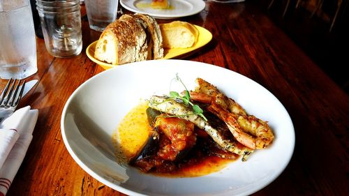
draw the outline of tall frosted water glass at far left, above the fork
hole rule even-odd
[[[0,77],[29,77],[38,71],[29,0],[0,1]]]

